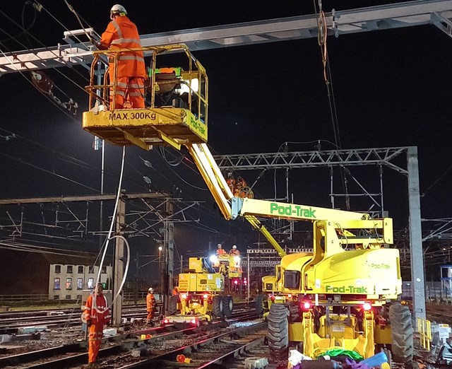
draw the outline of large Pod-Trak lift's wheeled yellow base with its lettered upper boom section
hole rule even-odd
[[[331,348],[364,358],[391,348],[397,361],[412,361],[412,323],[405,305],[389,305],[402,291],[399,252],[391,218],[295,204],[244,199],[242,212],[313,221],[314,250],[289,254],[263,277],[269,311],[268,345],[275,359],[291,345],[315,358]],[[334,219],[334,220],[333,220]]]

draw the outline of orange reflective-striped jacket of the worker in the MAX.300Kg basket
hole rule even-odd
[[[100,42],[109,49],[133,49],[141,47],[140,35],[135,23],[126,16],[117,16],[108,23]],[[110,76],[114,76],[114,58],[109,58]],[[145,78],[145,61],[142,51],[124,51],[119,54],[118,74],[121,77]],[[112,78],[110,78],[112,79]]]

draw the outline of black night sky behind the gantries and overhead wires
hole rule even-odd
[[[103,32],[112,1],[69,2],[97,33]],[[21,23],[25,1],[11,3],[0,9]],[[80,28],[64,1],[41,3],[70,30]],[[177,2],[123,1],[122,5],[140,33],[149,34],[314,13],[312,2],[300,3],[280,1],[278,6],[268,6],[261,1],[184,1],[182,6]],[[391,1],[323,1],[323,10],[388,3]],[[25,9],[27,26],[32,21],[32,10],[30,6]],[[20,32],[4,14],[0,16],[1,30],[13,35]],[[44,45],[54,46],[61,41],[63,29],[42,12],[30,33]],[[0,34],[2,40],[8,38]],[[23,36],[18,40],[30,45]],[[33,40],[32,45],[38,46]],[[2,41],[1,46],[4,51],[25,49],[12,40]],[[328,54],[342,147],[418,146],[421,192],[425,192],[422,216],[450,217],[451,38],[433,25],[341,35],[328,37]],[[195,55],[208,71],[209,144],[215,153],[276,152],[285,141],[297,143],[289,145],[290,151],[310,151],[315,149],[316,140],[334,141],[316,39],[207,50]],[[85,69],[75,69],[88,76]],[[87,84],[74,71],[59,71],[82,86]],[[58,71],[47,72],[56,86],[79,102],[81,109],[75,119],[70,119],[20,74],[0,78],[0,128],[21,136],[6,141],[1,137],[7,136],[6,132],[0,131],[1,198],[93,194],[100,187],[97,169],[100,152],[91,147],[93,136],[81,129],[81,111],[88,104],[87,95]],[[23,138],[32,142],[27,144]],[[37,144],[45,149],[38,149]],[[334,147],[323,143],[323,148]],[[51,149],[59,153],[51,153]],[[65,163],[60,153],[83,160],[91,168]],[[106,155],[106,170],[112,175],[107,175],[105,192],[114,192],[121,148],[108,144]],[[178,155],[174,152],[174,156]],[[157,170],[150,173],[140,156],[150,160]],[[213,200],[206,194],[201,177],[191,169],[184,165],[169,168],[156,150],[148,153],[128,148],[126,160],[124,181],[129,192],[146,191],[142,176],[148,175],[155,188],[172,191],[175,185],[182,189],[186,200],[205,199],[206,205],[199,212],[201,223],[218,224],[218,229],[226,233],[238,232],[234,225],[224,225],[215,215]],[[93,189],[25,163],[58,172]],[[173,171],[203,189],[186,185]],[[254,182],[256,173],[242,175],[248,182]],[[283,178],[283,172],[280,176]],[[295,194],[295,202],[330,206],[328,170],[311,170],[294,174],[293,178],[290,192]],[[398,228],[405,227],[408,224],[404,210],[408,209],[405,179],[387,171],[385,191],[386,210],[395,218]],[[273,175],[264,177],[256,192],[262,197],[273,197]],[[278,192],[278,196],[283,196],[283,186]],[[225,235],[210,235],[214,242],[218,238],[227,240]]]

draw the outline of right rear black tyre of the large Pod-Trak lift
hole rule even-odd
[[[391,305],[389,307],[389,322],[391,323],[393,360],[397,363],[411,363],[414,351],[411,312],[406,305]]]

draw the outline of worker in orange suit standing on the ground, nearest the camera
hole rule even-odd
[[[88,368],[95,367],[95,361],[102,343],[104,324],[111,319],[107,298],[102,294],[102,284],[97,283],[93,295],[89,295],[83,311],[83,320],[89,327]]]

